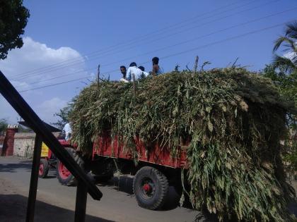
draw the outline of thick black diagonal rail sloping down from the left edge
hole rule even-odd
[[[11,85],[11,82],[7,80],[5,75],[0,71],[0,92],[4,98],[13,106],[18,114],[30,125],[30,128],[34,130],[37,135],[42,137],[43,142],[50,147],[52,152],[57,158],[62,161],[66,168],[77,178],[83,181],[88,188],[88,193],[93,199],[100,200],[102,192],[95,186],[90,178],[83,172],[83,170],[76,164],[76,161],[69,155],[69,153],[59,144],[52,132],[45,128],[40,118],[36,115],[33,109],[25,102],[23,97],[16,91]]]

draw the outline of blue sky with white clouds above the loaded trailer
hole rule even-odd
[[[272,60],[274,40],[284,33],[280,24],[297,19],[297,1],[292,0],[24,4],[31,15],[24,47],[10,51],[0,69],[47,122],[56,121],[53,113],[93,80],[98,64],[112,80],[120,79],[120,66],[132,61],[151,70],[153,56],[165,71],[176,65],[192,68],[197,55],[200,66],[211,62],[208,68],[226,67],[238,57],[242,66],[260,70]],[[67,83],[54,85],[61,82]],[[3,97],[0,106],[0,118],[15,123],[18,115]]]

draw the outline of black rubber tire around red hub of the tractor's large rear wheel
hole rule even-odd
[[[78,164],[78,166],[80,166],[83,169],[84,166],[84,161],[81,158],[81,156],[79,156],[76,153],[76,150],[73,149],[72,147],[65,147],[65,149],[67,150],[67,152],[70,154],[70,156],[72,156],[72,158],[74,159],[74,161],[76,161],[76,163]],[[56,171],[57,171],[57,178],[59,180],[59,183],[61,183],[62,185],[65,186],[76,186],[77,185],[77,180],[74,177],[74,175],[72,175],[71,173],[65,178],[63,175],[60,174],[59,168],[60,165],[62,164],[61,161],[59,161],[59,159],[57,159],[57,167],[56,167]],[[62,165],[63,166],[63,165]]]

